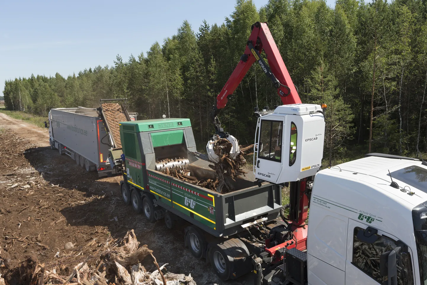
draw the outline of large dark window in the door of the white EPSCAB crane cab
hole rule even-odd
[[[281,161],[282,158],[282,130],[283,122],[262,120],[260,129],[260,143],[258,157]]]

